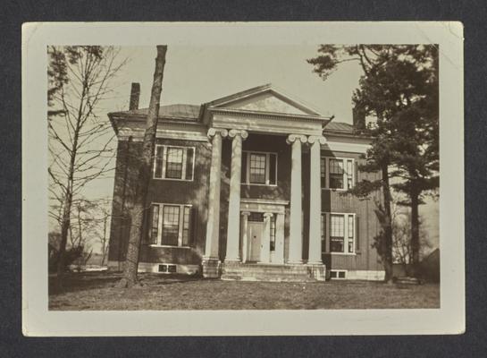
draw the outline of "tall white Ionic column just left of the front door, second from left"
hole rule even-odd
[[[225,261],[239,261],[239,227],[240,227],[240,181],[242,166],[242,141],[247,139],[247,131],[232,129],[231,141],[231,176],[230,198],[228,204],[227,253]]]

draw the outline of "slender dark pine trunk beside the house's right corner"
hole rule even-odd
[[[392,214],[390,210],[389,166],[382,166],[382,188],[384,200],[384,235],[382,237],[382,261],[385,270],[384,282],[392,279]]]

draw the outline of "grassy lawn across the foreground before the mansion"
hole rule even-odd
[[[143,286],[115,287],[121,275],[72,273],[63,292],[50,277],[49,309],[100,310],[313,310],[439,308],[440,286],[384,285],[366,281],[312,283],[237,282],[140,275]]]

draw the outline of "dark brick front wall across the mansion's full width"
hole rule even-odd
[[[243,184],[241,186],[242,198],[261,198],[269,200],[290,200],[290,153],[291,148],[284,136],[260,135],[251,133],[247,141],[243,142],[243,150],[272,151],[278,154],[277,186],[256,186]],[[142,262],[173,262],[198,264],[205,251],[206,217],[209,171],[211,163],[211,146],[202,141],[179,141],[158,139],[157,144],[172,144],[195,147],[194,180],[171,181],[153,179],[149,186],[148,200],[153,202],[192,204],[197,218],[193,230],[191,248],[161,248],[150,247],[143,244],[140,251]],[[139,159],[141,142],[119,141],[116,159],[115,181],[113,189],[113,218],[110,239],[109,260],[124,260],[124,252],[129,238],[129,222],[123,220],[122,208],[130,209],[133,202],[133,188],[137,180],[134,164]],[[356,164],[360,155],[352,153],[330,152],[323,150],[322,154],[329,157],[355,158]],[[309,152],[303,147],[303,209],[304,209],[304,240],[303,257],[308,254],[308,212],[309,212]],[[128,170],[126,170],[128,168]],[[131,170],[130,170],[131,168]],[[222,182],[220,206],[220,258],[225,257],[227,213],[229,200],[229,184],[231,176],[231,141],[223,140],[222,154]],[[358,173],[356,182],[363,178],[374,180],[377,174]],[[123,193],[125,196],[123,199]],[[324,254],[323,261],[327,268],[382,270],[376,251],[371,248],[374,236],[379,233],[380,227],[374,214],[374,200],[381,200],[377,192],[371,200],[359,200],[351,195],[342,196],[340,192],[323,190],[322,208],[326,212],[355,213],[358,216],[359,226],[357,240],[360,242],[360,251],[356,255],[330,255]],[[289,207],[286,208],[284,226],[284,257],[289,257]]]

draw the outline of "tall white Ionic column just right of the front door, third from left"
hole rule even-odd
[[[288,143],[292,145],[290,175],[290,263],[303,262],[303,204],[301,179],[301,143],[306,136],[290,134]]]

